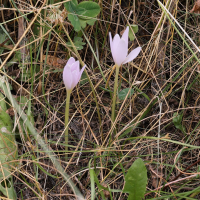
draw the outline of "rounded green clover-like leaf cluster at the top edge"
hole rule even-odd
[[[68,19],[74,26],[75,31],[85,28],[86,24],[93,25],[94,19],[100,12],[97,3],[91,1],[83,1],[78,4],[77,0],[71,0],[64,3],[65,8],[69,12]]]

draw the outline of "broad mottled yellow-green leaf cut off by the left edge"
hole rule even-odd
[[[12,166],[17,156],[15,135],[12,133],[12,120],[6,113],[5,98],[0,93],[0,191],[9,199],[16,199],[11,176]]]

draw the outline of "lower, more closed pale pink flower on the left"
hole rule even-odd
[[[71,91],[80,81],[86,65],[80,70],[79,61],[71,57],[63,70],[63,81],[67,90]]]

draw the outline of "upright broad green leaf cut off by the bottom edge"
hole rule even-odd
[[[147,185],[147,169],[141,158],[137,159],[129,168],[125,176],[123,192],[129,193],[128,200],[144,198]]]

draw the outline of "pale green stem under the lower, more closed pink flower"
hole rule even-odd
[[[70,104],[70,95],[71,95],[71,90],[67,90],[67,99],[66,99],[66,107],[65,107],[65,160],[68,160],[68,136],[69,136],[69,104]]]

